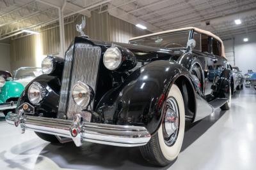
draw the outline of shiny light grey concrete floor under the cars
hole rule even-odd
[[[168,167],[152,167],[138,148],[86,143],[52,145],[33,132],[0,120],[1,169],[256,169],[256,90],[232,97],[229,111],[216,111],[186,129],[182,151]]]

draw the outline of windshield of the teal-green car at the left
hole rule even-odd
[[[17,69],[15,71],[14,80],[19,80],[22,78],[35,78],[36,76],[40,76],[42,74],[41,68],[23,68]]]

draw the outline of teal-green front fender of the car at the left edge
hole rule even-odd
[[[1,89],[0,101],[3,101],[3,103],[5,103],[6,100],[10,98],[20,97],[20,94],[23,92],[23,90],[24,87],[21,83],[18,83],[16,81],[6,81]]]

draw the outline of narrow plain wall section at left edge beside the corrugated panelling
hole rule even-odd
[[[10,64],[10,45],[0,43],[0,70],[12,71]]]

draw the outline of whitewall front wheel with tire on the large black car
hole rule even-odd
[[[147,145],[140,146],[144,159],[156,166],[166,166],[179,155],[185,129],[185,108],[177,85],[172,85],[163,108],[163,122]]]

